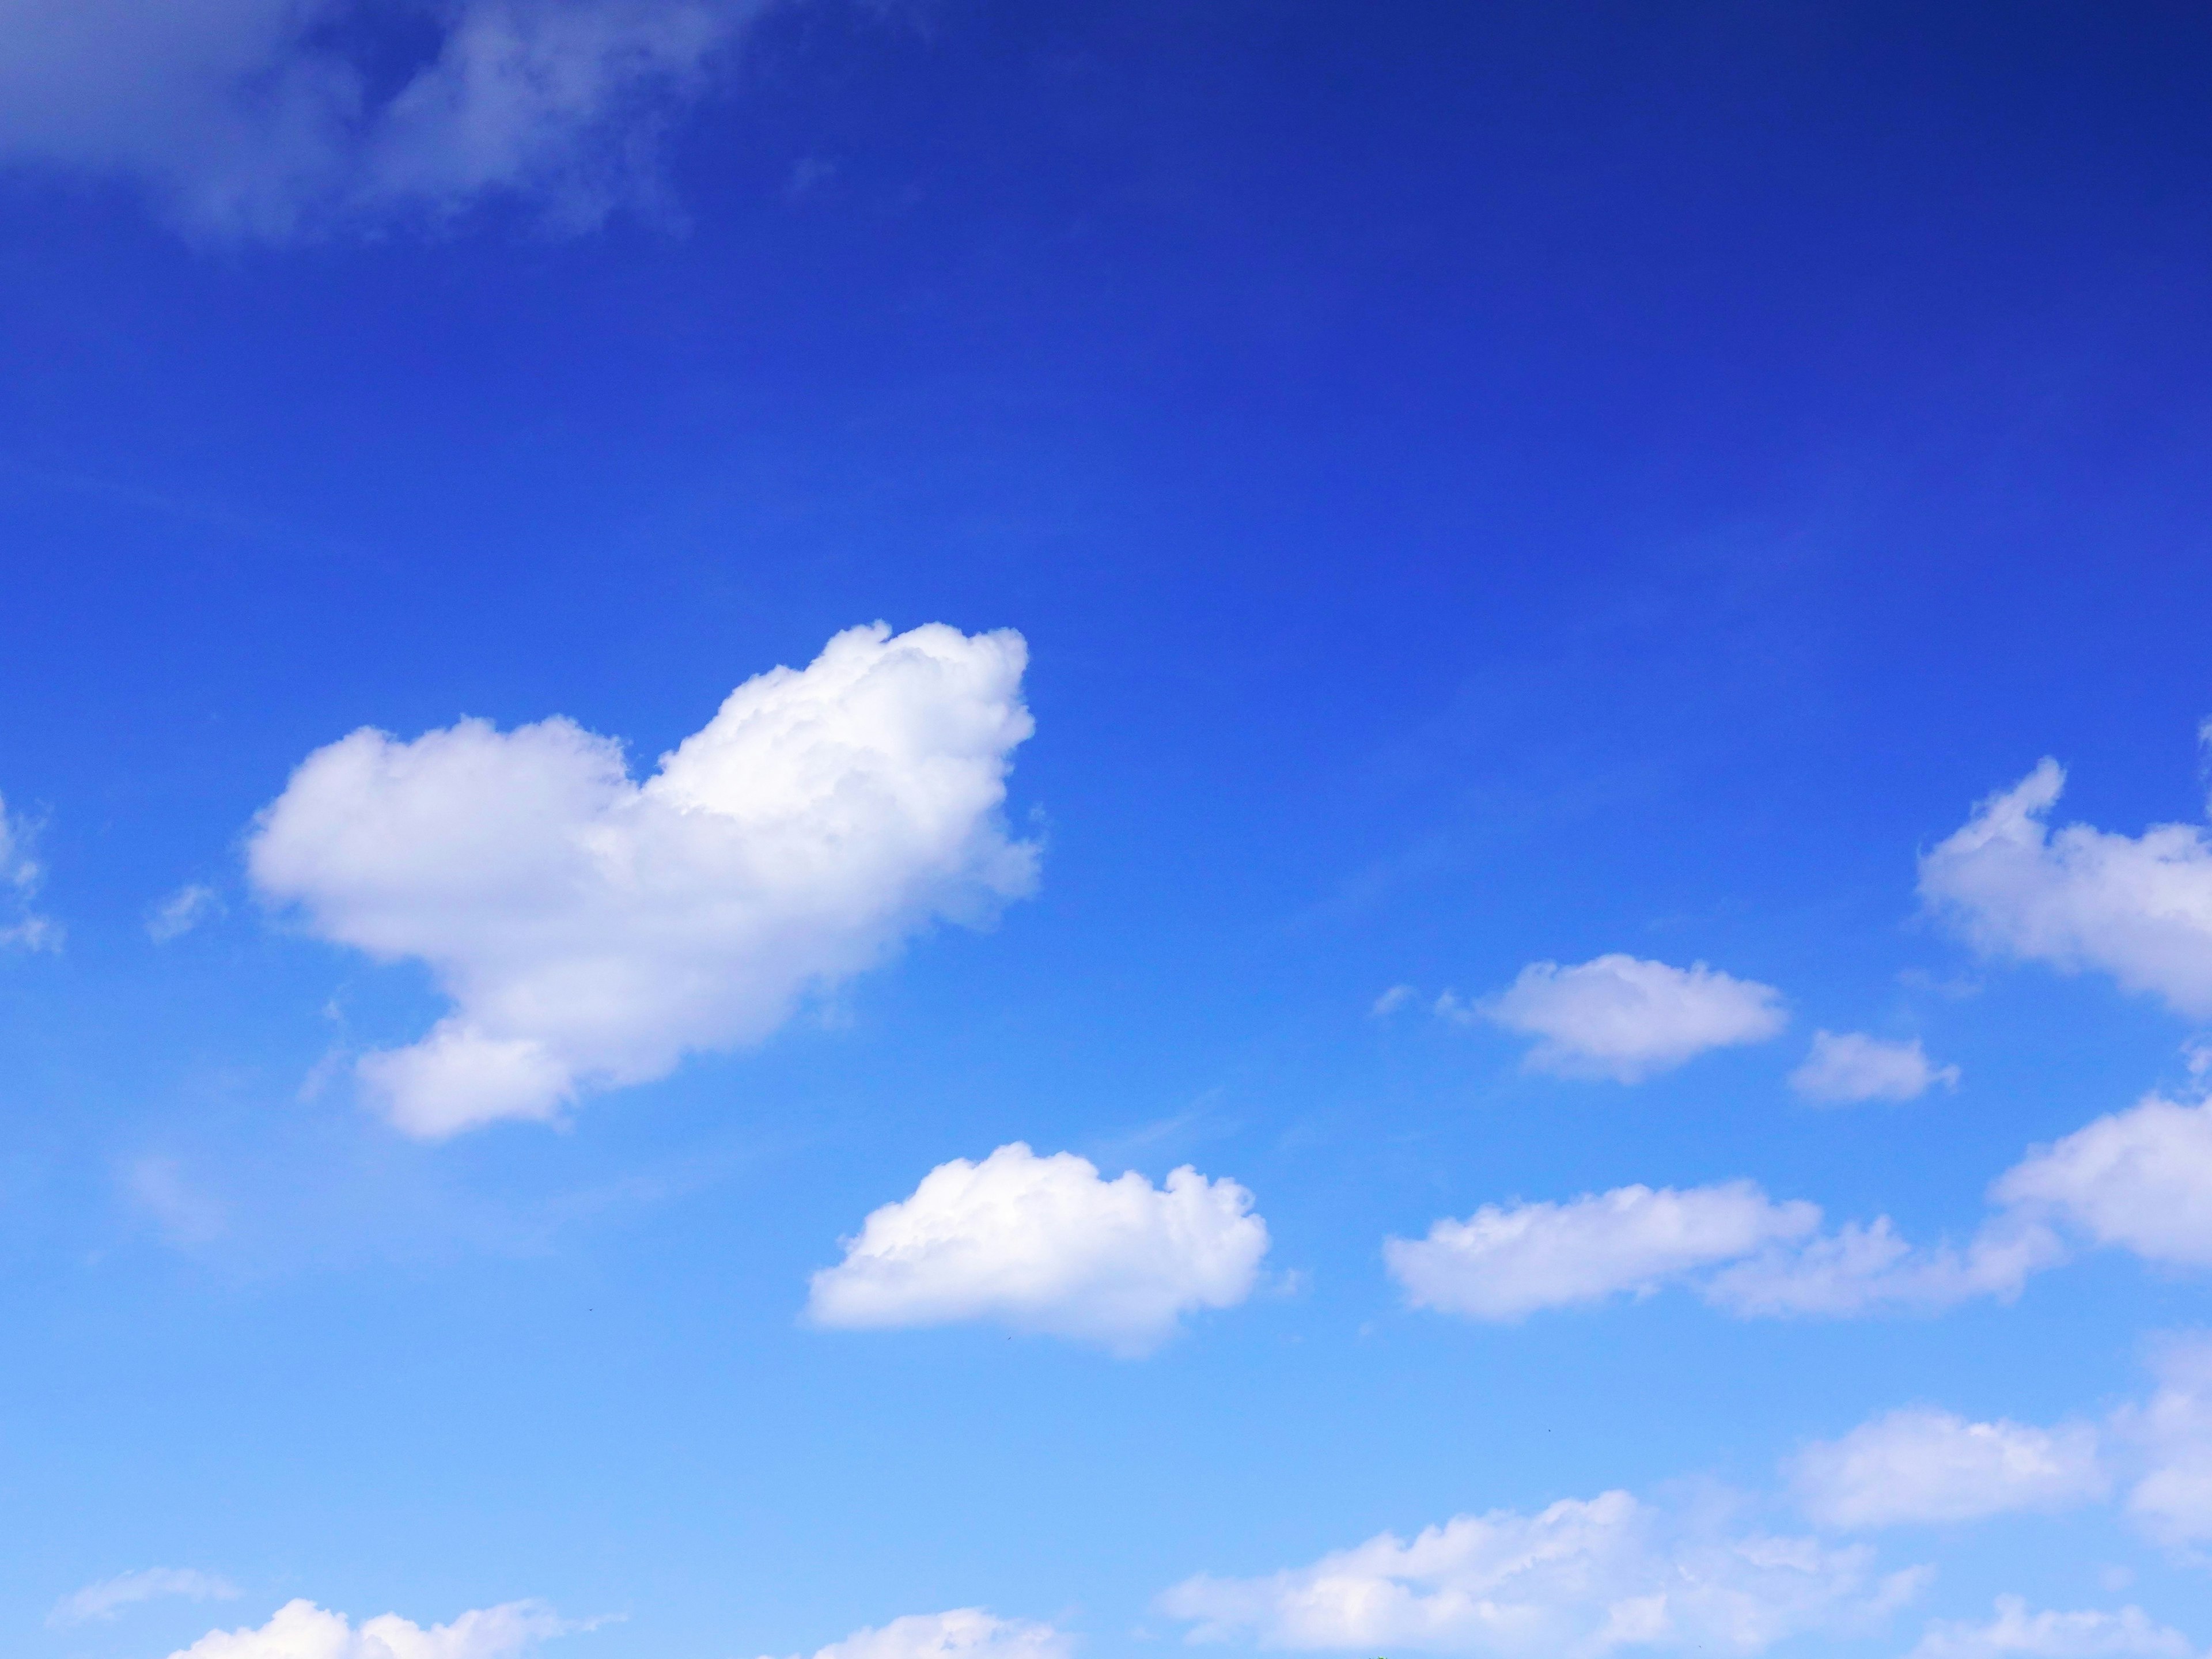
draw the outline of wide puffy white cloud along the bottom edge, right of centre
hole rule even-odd
[[[1267,1577],[1201,1575],[1159,1606],[1201,1641],[1263,1648],[1756,1655],[1794,1635],[1860,1628],[1920,1582],[1918,1571],[1878,1577],[1863,1546],[1730,1533],[1608,1491],[1535,1515],[1455,1515],[1413,1540],[1383,1533]]]

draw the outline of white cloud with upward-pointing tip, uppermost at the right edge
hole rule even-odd
[[[1991,956],[2104,969],[2179,1013],[2212,1015],[2212,843],[2197,825],[2141,836],[2048,830],[2066,787],[2042,761],[1920,860],[1920,894]]]

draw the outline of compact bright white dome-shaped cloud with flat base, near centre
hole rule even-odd
[[[940,1164],[814,1274],[807,1316],[880,1329],[998,1321],[1137,1356],[1199,1307],[1252,1294],[1267,1223],[1252,1194],[1183,1166],[1155,1188],[1106,1181],[1073,1152],[1015,1141],[982,1164]]]

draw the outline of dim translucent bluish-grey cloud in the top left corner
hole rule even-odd
[[[653,139],[768,0],[0,0],[0,164],[281,237],[491,195],[650,199]]]

